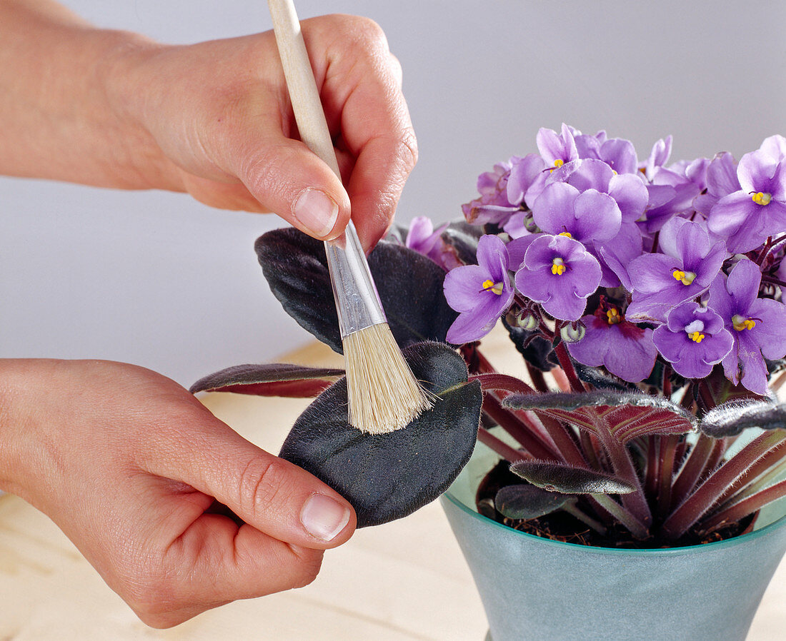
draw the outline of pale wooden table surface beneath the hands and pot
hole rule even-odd
[[[512,350],[504,336],[492,335],[484,348],[502,370],[521,375],[520,362],[505,367]],[[337,358],[315,343],[286,360],[335,365]],[[272,452],[307,405],[239,394],[206,394],[202,400]],[[138,621],[46,516],[16,496],[0,496],[0,641],[483,641],[486,630],[472,577],[437,502],[399,521],[358,530],[325,555],[317,580],[306,588],[230,603],[177,628],[154,630]],[[786,562],[747,641],[783,641],[784,630]]]

